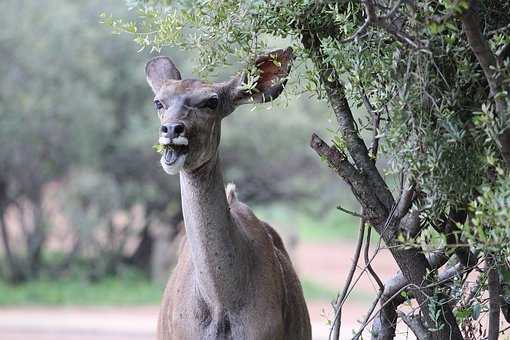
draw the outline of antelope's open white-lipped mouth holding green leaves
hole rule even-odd
[[[175,175],[182,170],[189,151],[188,139],[176,137],[173,139],[160,137],[159,144],[163,147],[161,166],[166,173]]]

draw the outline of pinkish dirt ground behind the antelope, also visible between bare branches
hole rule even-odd
[[[301,277],[333,292],[342,288],[351,265],[354,242],[301,244],[295,266]],[[361,264],[360,264],[361,265]],[[395,270],[383,252],[373,264],[384,280]],[[359,270],[358,270],[359,272]],[[356,277],[356,276],[355,276]],[[342,339],[358,329],[376,289],[362,276],[343,313]],[[308,301],[313,339],[327,339],[331,318],[329,301]],[[121,340],[154,339],[158,306],[142,307],[24,307],[0,308],[1,340]]]

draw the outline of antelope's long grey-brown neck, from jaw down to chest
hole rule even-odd
[[[218,155],[181,171],[180,183],[197,288],[215,309],[235,308],[248,284],[248,242],[230,213]]]

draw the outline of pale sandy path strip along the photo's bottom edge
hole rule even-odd
[[[0,339],[149,340],[155,338],[157,314],[157,306],[3,308],[0,310]],[[313,329],[314,339],[327,338],[328,327],[324,322],[314,320]]]

